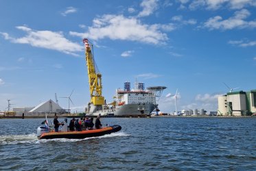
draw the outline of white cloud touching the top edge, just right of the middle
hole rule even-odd
[[[158,1],[159,0],[143,0],[141,2],[141,7],[143,8],[143,10],[139,12],[138,16],[149,16],[150,14],[152,14],[154,10],[159,8],[157,4]]]

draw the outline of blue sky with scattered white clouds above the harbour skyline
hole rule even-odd
[[[103,96],[135,80],[166,86],[159,109],[217,111],[218,96],[256,89],[255,0],[0,0],[0,110],[90,101],[83,38]],[[226,87],[226,85],[229,88]]]

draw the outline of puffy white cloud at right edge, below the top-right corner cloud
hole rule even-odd
[[[250,16],[250,12],[248,10],[240,10],[234,13],[230,18],[223,20],[221,16],[215,16],[213,18],[209,18],[207,22],[204,23],[203,27],[213,29],[243,29],[243,28],[255,28],[256,21],[245,21],[244,19]]]

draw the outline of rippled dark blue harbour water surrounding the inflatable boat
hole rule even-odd
[[[121,132],[37,140],[43,119],[0,120],[0,170],[256,170],[256,118],[101,120]]]

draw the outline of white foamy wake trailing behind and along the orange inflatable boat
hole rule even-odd
[[[102,135],[100,137],[86,137],[84,139],[67,139],[67,138],[59,138],[59,139],[51,139],[51,140],[38,140],[36,133],[28,134],[28,135],[0,135],[0,144],[40,144],[45,142],[80,142],[84,140],[90,139],[101,139],[108,137],[126,137],[130,136],[124,132],[111,133]]]

